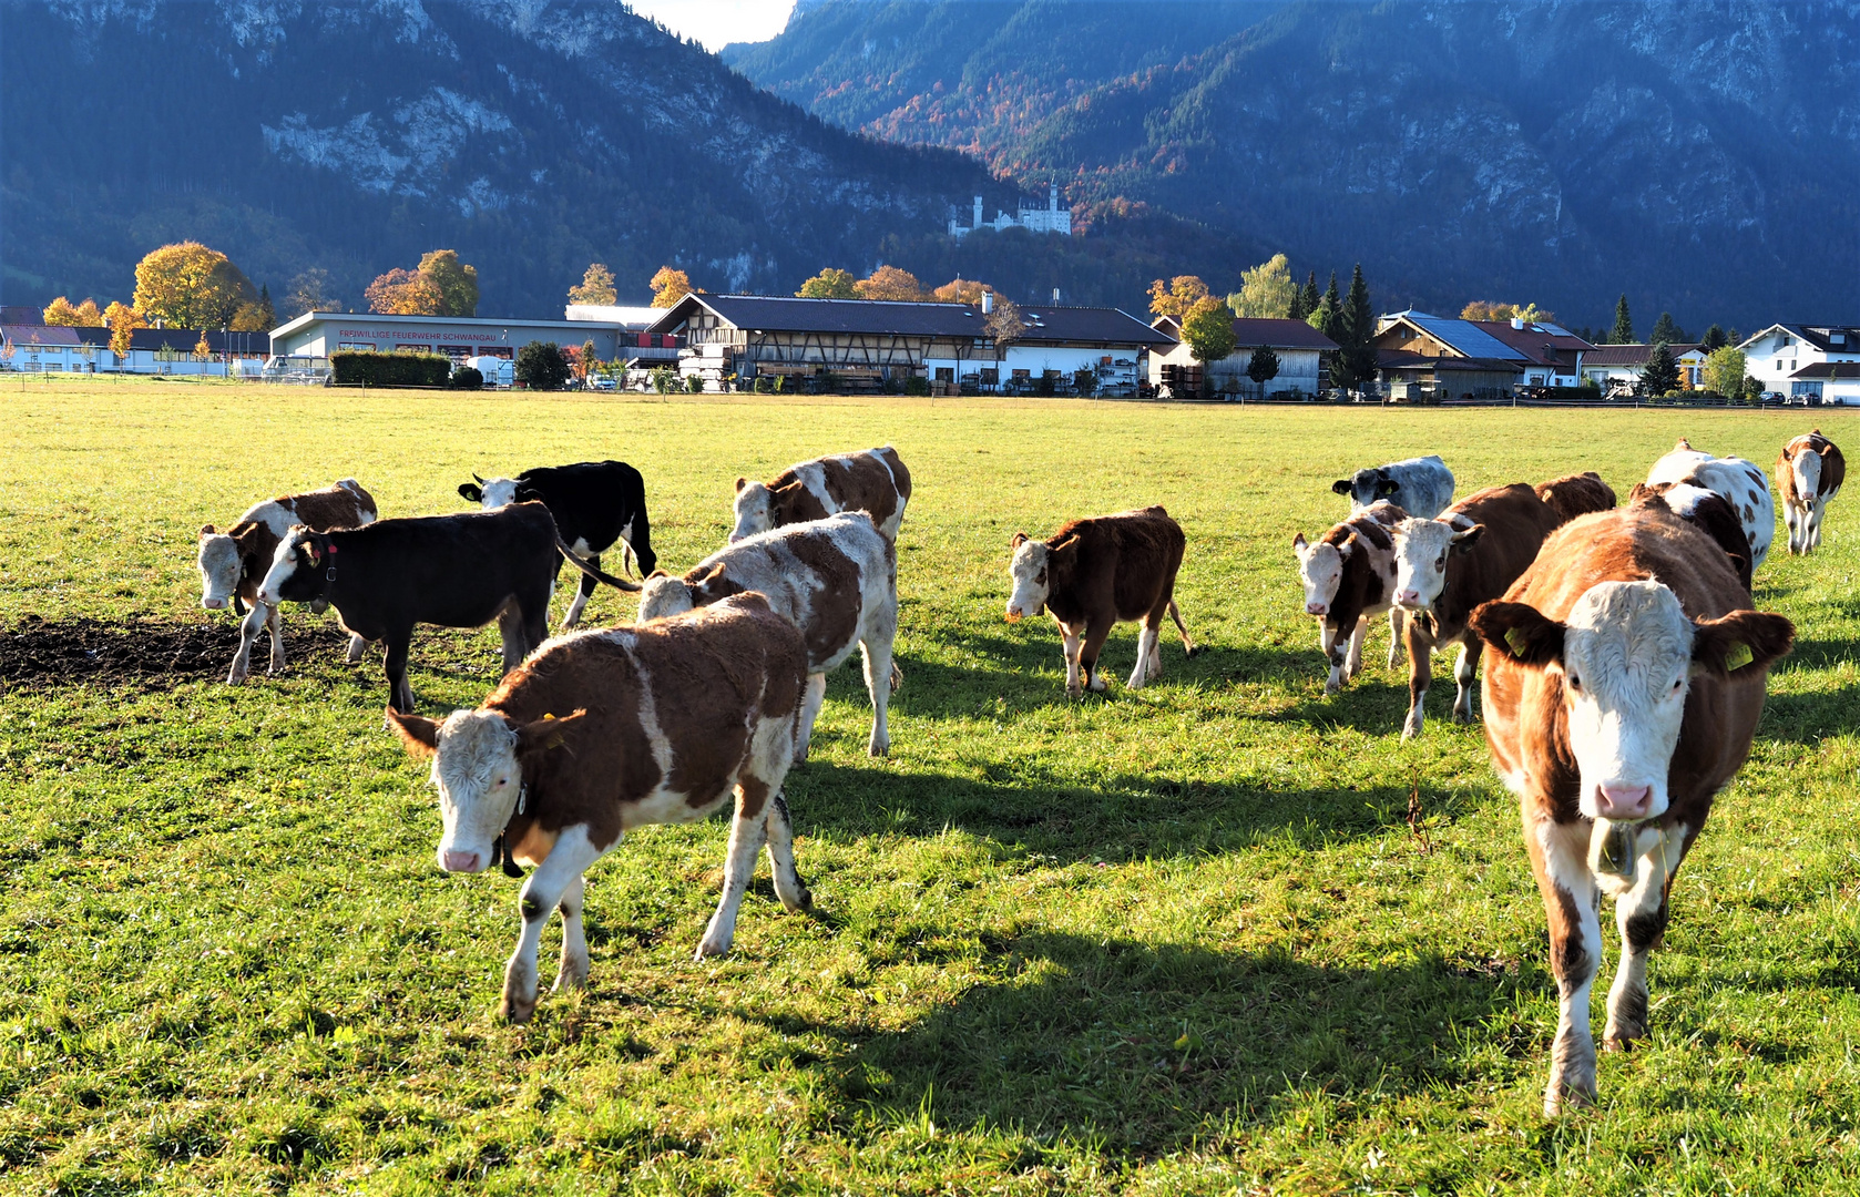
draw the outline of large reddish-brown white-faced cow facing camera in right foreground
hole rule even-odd
[[[1521,799],[1549,920],[1559,1019],[1546,1113],[1596,1097],[1601,892],[1622,937],[1603,1045],[1646,1035],[1646,957],[1665,935],[1674,874],[1748,756],[1767,667],[1795,636],[1747,604],[1702,532],[1637,504],[1564,526],[1505,600],[1473,612],[1486,743]]]

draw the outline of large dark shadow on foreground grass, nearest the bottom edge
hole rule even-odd
[[[811,1028],[850,1045],[820,1065],[846,1102],[891,1123],[928,1115],[1148,1154],[1272,1117],[1296,1093],[1388,1097],[1497,1080],[1456,1058],[1468,1032],[1525,1069],[1546,1048],[1512,1017],[1520,989],[1549,983],[1538,965],[1335,968],[1283,952],[1045,931],[990,948],[995,980],[913,1026]]]

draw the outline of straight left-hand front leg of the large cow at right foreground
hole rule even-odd
[[[1412,647],[1412,643],[1410,643]],[[1590,823],[1557,823],[1538,814],[1542,803],[1523,803],[1523,838],[1531,872],[1549,922],[1549,968],[1557,976],[1557,1039],[1549,1048],[1544,1115],[1557,1117],[1564,1102],[1596,1100],[1596,1039],[1588,1030],[1588,993],[1601,957],[1601,894],[1588,872]]]

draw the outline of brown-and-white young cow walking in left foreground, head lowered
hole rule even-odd
[[[407,751],[433,758],[439,868],[478,874],[504,853],[536,866],[517,903],[506,1019],[528,1022],[536,1009],[536,952],[552,909],[562,911],[556,989],[588,981],[582,874],[634,827],[690,823],[735,797],[724,898],[698,959],[729,952],[764,842],[781,905],[813,905],[781,797],[805,686],[800,630],[750,593],[551,639],[478,710],[443,723],[389,708]]]

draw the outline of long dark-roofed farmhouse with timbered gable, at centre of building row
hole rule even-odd
[[[988,333],[993,297],[965,303],[684,296],[651,335],[684,344],[679,370],[709,385],[779,377],[843,390],[878,390],[910,377],[949,390],[1071,390],[1092,370],[1099,394],[1136,394],[1146,357],[1174,340],[1118,309],[1030,307],[1021,336]]]

